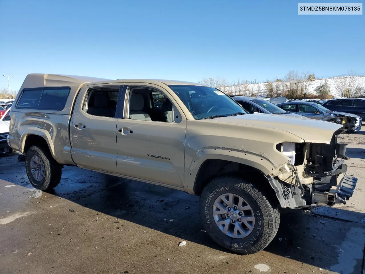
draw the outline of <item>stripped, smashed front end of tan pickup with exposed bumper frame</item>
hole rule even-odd
[[[268,178],[282,207],[345,204],[353,195],[357,178],[346,174],[347,165],[339,159],[346,153],[346,144],[337,141],[343,130],[333,134],[330,144],[295,144],[295,159]],[[283,153],[282,147],[277,150]]]

